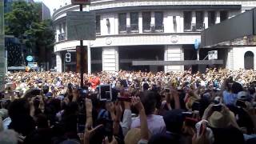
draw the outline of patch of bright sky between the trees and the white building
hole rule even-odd
[[[50,9],[50,14],[54,13],[54,9],[58,9],[59,6],[64,6],[65,2],[70,2],[70,0],[34,0],[34,2],[43,2]]]

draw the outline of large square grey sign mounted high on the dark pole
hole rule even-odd
[[[66,29],[68,40],[95,40],[96,18],[94,12],[68,11]]]

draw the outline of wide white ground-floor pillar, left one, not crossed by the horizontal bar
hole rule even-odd
[[[104,47],[102,49],[102,70],[108,72],[119,70],[118,47]]]

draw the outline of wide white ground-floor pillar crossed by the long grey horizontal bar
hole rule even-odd
[[[165,61],[183,61],[184,52],[182,45],[167,45],[165,48]],[[165,66],[165,72],[182,71],[184,66]]]

